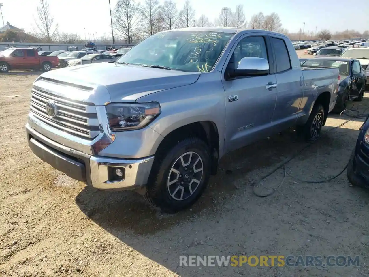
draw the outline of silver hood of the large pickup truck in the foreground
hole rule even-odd
[[[106,102],[134,102],[150,93],[190,85],[199,76],[199,72],[103,62],[45,72],[34,85],[67,98],[104,105]],[[77,88],[81,88],[81,93],[76,93]]]

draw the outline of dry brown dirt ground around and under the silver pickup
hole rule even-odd
[[[252,194],[253,182],[306,146],[293,130],[228,154],[192,209],[161,214],[134,192],[87,188],[32,154],[24,125],[37,75],[0,75],[0,276],[369,276],[369,193],[350,187],[346,172],[322,184],[287,176],[272,196]],[[350,105],[369,111],[368,97]],[[323,131],[344,121],[330,115]],[[361,124],[324,134],[287,171],[336,175]],[[278,170],[256,190],[282,177]],[[180,255],[233,254],[358,255],[360,266],[179,267]]]

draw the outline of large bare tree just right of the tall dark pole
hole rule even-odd
[[[139,3],[135,0],[118,0],[113,11],[113,28],[128,44],[138,39],[138,25],[141,20],[139,8]]]

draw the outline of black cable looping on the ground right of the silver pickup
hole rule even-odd
[[[354,106],[352,106],[354,107]],[[364,112],[367,110],[368,108],[366,108],[364,110]],[[341,115],[342,114],[345,114],[346,112],[351,112],[351,113],[354,113],[354,112],[357,112],[358,114],[353,114],[353,115],[349,115],[351,117],[351,119],[348,119],[346,120],[344,123],[342,124],[339,124],[338,126],[335,126],[331,129],[329,129],[328,131],[325,131],[321,136],[324,136],[326,133],[334,130],[334,129],[337,129],[339,127],[342,127],[344,126],[346,123],[350,122],[351,120],[353,120],[354,118],[358,118],[358,119],[367,119],[369,117],[369,113],[368,114],[365,114],[365,113],[360,113],[358,110],[356,109],[347,109],[347,110],[343,110],[340,114],[339,114],[339,117],[341,118]],[[317,140],[315,140],[317,141]],[[325,180],[319,180],[319,181],[309,181],[309,180],[302,180],[302,179],[299,179],[297,177],[294,177],[292,174],[290,174],[289,172],[287,172],[287,169],[286,169],[286,164],[288,164],[290,161],[292,161],[294,158],[296,158],[297,156],[299,156],[305,149],[309,148],[311,145],[313,145],[313,143],[315,143],[315,141],[307,144],[305,147],[303,147],[298,153],[296,153],[295,155],[293,155],[291,158],[289,158],[287,161],[284,161],[282,164],[280,164],[278,167],[276,167],[274,170],[272,170],[271,172],[269,172],[267,175],[265,175],[264,177],[262,177],[258,182],[254,183],[253,186],[252,186],[252,192],[254,193],[254,195],[260,197],[260,198],[264,198],[264,197],[268,197],[272,194],[274,194],[283,184],[284,182],[284,179],[286,178],[286,175],[289,175],[291,178],[297,180],[297,181],[300,181],[300,182],[306,182],[306,183],[309,183],[309,184],[321,184],[321,183],[325,183],[325,182],[329,182],[329,181],[332,181],[333,179],[339,177],[339,175],[341,175],[343,172],[345,172],[346,168],[348,167],[348,163],[346,164],[346,166],[344,167],[344,169],[339,172],[337,175],[329,178],[329,179],[325,179]],[[256,187],[256,184],[260,184],[261,181],[263,181],[264,179],[268,178],[270,175],[272,175],[273,173],[275,173],[277,170],[283,168],[283,179],[282,179],[282,182],[280,182],[280,184],[276,187],[276,188],[273,188],[272,191],[268,194],[258,194],[255,192],[255,187]]]

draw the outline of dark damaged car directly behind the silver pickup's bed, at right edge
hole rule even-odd
[[[357,59],[350,58],[314,58],[301,65],[303,68],[337,67],[339,69],[339,86],[337,102],[333,109],[341,113],[351,100],[362,101],[366,86],[366,73]]]

